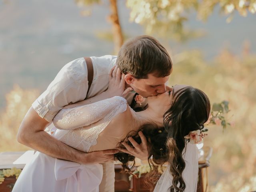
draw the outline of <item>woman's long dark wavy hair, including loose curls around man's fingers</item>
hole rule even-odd
[[[184,148],[186,150],[186,139],[190,131],[202,130],[204,123],[210,114],[210,101],[204,92],[191,86],[178,91],[173,90],[171,107],[164,114],[164,127],[158,128],[154,125],[143,125],[139,130],[143,132],[148,141],[148,160],[162,165],[169,163],[172,175],[172,186],[170,192],[184,192],[186,184],[182,178],[185,161],[182,157]],[[126,137],[124,141],[127,141]],[[132,136],[139,144],[141,143],[138,132]],[[132,144],[128,142],[130,146]],[[120,144],[122,147],[122,144]],[[122,162],[124,170],[131,172],[128,161],[134,161],[134,156],[125,153],[115,154],[116,159]],[[152,158],[151,158],[152,157]],[[152,174],[150,174],[152,176]],[[158,175],[154,181],[158,179]],[[156,182],[151,182],[154,185]]]

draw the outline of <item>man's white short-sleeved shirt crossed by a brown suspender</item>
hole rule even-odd
[[[92,85],[88,90],[88,72],[84,58],[66,64],[32,104],[41,118],[52,122],[63,106],[96,96],[108,88],[108,72],[116,64],[117,56],[90,57],[94,69]]]

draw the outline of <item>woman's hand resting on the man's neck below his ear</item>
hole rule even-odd
[[[125,97],[130,91],[133,90],[131,87],[125,88],[124,74],[121,73],[118,66],[114,66],[108,73],[108,76],[109,76],[109,84],[108,84],[108,90],[106,90],[106,93],[110,97],[113,97],[113,96]]]

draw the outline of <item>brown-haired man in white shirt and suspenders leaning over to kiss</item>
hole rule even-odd
[[[91,68],[87,68],[90,62],[92,62]],[[81,152],[56,140],[44,130],[64,106],[92,97],[94,102],[102,100],[103,96],[106,98],[108,73],[115,65],[125,74],[126,87],[131,87],[143,97],[166,92],[165,83],[172,72],[170,56],[155,38],[138,36],[127,41],[117,57],[111,55],[90,57],[86,61],[84,58],[79,58],[66,64],[47,90],[34,101],[20,125],[17,136],[18,142],[54,158],[80,164],[103,163],[104,176],[100,184],[100,192],[114,192],[112,161],[118,150]],[[89,76],[93,77],[91,85],[88,85]],[[134,94],[130,92],[126,98],[128,104],[132,103],[133,98]],[[143,158],[147,155],[147,146],[144,135],[141,134],[140,137],[142,144],[132,142],[134,149],[127,149],[126,152]]]

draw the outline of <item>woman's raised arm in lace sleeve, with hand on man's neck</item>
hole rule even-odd
[[[115,78],[113,78],[114,76]],[[124,74],[121,77],[120,69],[116,66],[110,70],[108,90],[98,96],[65,106],[56,114],[53,124],[56,128],[65,130],[88,126],[102,119],[115,107],[122,104],[122,101],[123,105],[126,106],[126,100],[124,98],[109,97],[124,97],[131,90],[131,88],[125,89]]]

